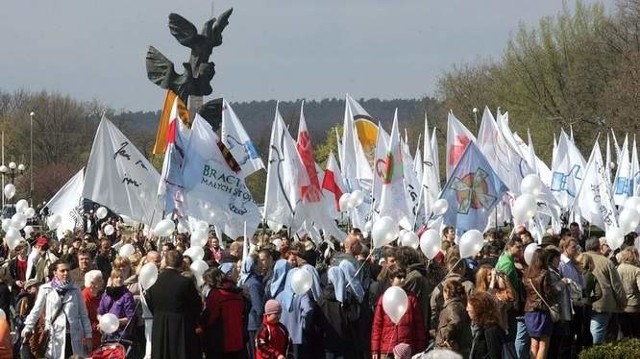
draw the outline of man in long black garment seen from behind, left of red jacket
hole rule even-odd
[[[165,268],[145,298],[153,313],[151,356],[153,359],[192,359],[202,357],[196,323],[202,301],[193,280],[180,274],[182,255],[165,254]]]

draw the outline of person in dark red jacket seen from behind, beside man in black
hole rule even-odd
[[[240,359],[245,349],[246,323],[242,289],[216,267],[207,269],[202,278],[211,287],[201,323],[205,357]]]

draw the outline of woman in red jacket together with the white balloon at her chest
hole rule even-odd
[[[416,296],[402,289],[406,270],[398,265],[388,269],[389,287],[378,300],[371,327],[371,356],[393,358],[399,343],[411,346],[413,353],[426,347],[426,330],[422,310]]]

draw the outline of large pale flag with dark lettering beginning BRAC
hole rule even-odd
[[[236,239],[251,237],[260,223],[260,211],[244,178],[227,162],[221,141],[211,125],[196,114],[184,155],[184,196],[189,216],[220,226]]]

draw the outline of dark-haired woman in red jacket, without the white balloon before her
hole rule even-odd
[[[406,269],[396,264],[389,266],[387,280],[392,286],[401,287]],[[384,312],[382,298],[378,299],[371,327],[371,357],[373,359],[393,358],[393,348],[399,343],[411,346],[413,353],[426,347],[427,334],[422,309],[415,295],[407,292],[408,307],[398,324]]]

